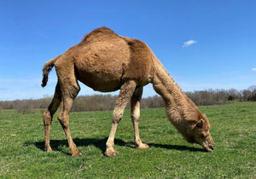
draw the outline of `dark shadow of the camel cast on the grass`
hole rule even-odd
[[[88,147],[90,145],[93,145],[99,149],[102,150],[102,153],[106,150],[106,142],[108,138],[85,138],[85,139],[79,139],[75,138],[73,139],[74,143],[77,145],[77,147]],[[121,139],[114,139],[115,145],[121,146],[121,147],[131,147],[135,148],[135,144],[132,141],[126,142]],[[44,151],[44,141],[36,141],[36,142],[30,142],[25,143],[26,146],[33,145],[35,147],[38,147],[38,149]],[[171,145],[171,144],[157,144],[157,143],[148,143],[149,147],[160,147],[160,148],[166,148],[170,150],[177,150],[177,151],[190,151],[190,152],[203,152],[202,149],[196,148],[196,147],[186,147],[186,146],[179,146],[179,145]],[[67,153],[63,150],[61,150],[61,146],[68,147],[67,140],[51,140],[50,146],[54,151],[58,151],[61,153],[65,153],[67,155],[71,155],[71,153]],[[86,152],[86,151],[84,151]]]

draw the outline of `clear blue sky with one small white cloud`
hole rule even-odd
[[[256,84],[255,9],[253,0],[1,1],[0,101],[53,95],[55,70],[40,87],[44,63],[100,26],[148,43],[184,91],[247,89]],[[79,95],[94,94],[81,84]]]

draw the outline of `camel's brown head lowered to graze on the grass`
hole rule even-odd
[[[210,124],[206,115],[202,115],[199,121],[195,122],[192,127],[189,127],[184,137],[191,143],[200,144],[207,152],[213,151],[214,141],[210,134]]]

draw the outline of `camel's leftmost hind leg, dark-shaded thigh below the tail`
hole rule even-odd
[[[55,95],[52,99],[49,107],[43,114],[43,120],[44,120],[44,141],[45,141],[45,148],[47,152],[51,152],[52,149],[49,145],[49,130],[50,130],[50,124],[52,122],[53,115],[55,114],[56,110],[60,106],[61,103],[61,89],[60,84],[56,84],[55,87]]]

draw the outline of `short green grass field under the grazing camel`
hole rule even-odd
[[[119,124],[115,149],[103,155],[112,112],[71,113],[71,133],[84,155],[73,158],[58,120],[51,127],[51,146],[44,151],[41,113],[0,113],[0,178],[170,177],[256,178],[256,102],[200,107],[207,113],[215,141],[213,153],[189,144],[170,124],[163,108],[142,109],[140,134],[150,148],[133,144],[130,112]]]

